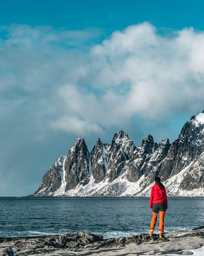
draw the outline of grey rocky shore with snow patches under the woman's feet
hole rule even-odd
[[[204,227],[192,231],[174,230],[165,238],[153,234],[104,240],[92,233],[67,233],[58,236],[0,238],[1,256],[141,256],[204,255]]]

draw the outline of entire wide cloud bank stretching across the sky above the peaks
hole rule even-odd
[[[100,34],[1,27],[1,118],[23,114],[26,124],[81,135],[134,116],[202,111],[204,32],[186,28],[168,38],[145,22],[95,44]]]

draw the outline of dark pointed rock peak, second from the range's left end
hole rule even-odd
[[[64,163],[65,182],[67,183],[65,191],[75,188],[78,184],[89,183],[89,156],[84,139],[76,140]]]

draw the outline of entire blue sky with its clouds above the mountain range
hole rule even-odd
[[[2,1],[0,196],[84,137],[177,138],[204,109],[203,1]]]

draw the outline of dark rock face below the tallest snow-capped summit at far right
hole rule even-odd
[[[161,163],[159,175],[163,180],[180,172],[203,152],[203,129],[204,125],[198,123],[195,117],[186,122]]]

